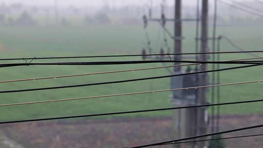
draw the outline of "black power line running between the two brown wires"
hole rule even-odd
[[[172,74],[172,75],[146,77],[146,78],[138,78],[138,79],[128,79],[128,80],[120,80],[120,81],[110,81],[110,82],[100,82],[100,83],[89,83],[89,84],[78,84],[78,85],[68,85],[68,86],[57,86],[57,87],[45,87],[45,88],[24,89],[24,90],[12,90],[12,91],[0,91],[0,93],[29,92],[29,91],[52,90],[52,89],[63,89],[63,88],[83,87],[83,86],[94,86],[94,85],[124,83],[124,82],[142,81],[142,80],[150,80],[150,79],[159,79],[159,78],[166,78],[166,77],[173,77],[173,76],[181,76],[181,75],[189,75],[189,74],[211,73],[211,72],[218,72],[218,71],[226,71],[226,70],[233,70],[233,69],[248,68],[248,67],[260,66],[260,65],[263,65],[263,64],[253,64],[253,65],[247,65],[247,66],[239,66],[239,67],[224,68],[224,69],[218,69],[218,70],[209,70],[209,71],[193,72],[193,73],[187,73],[187,74]]]

